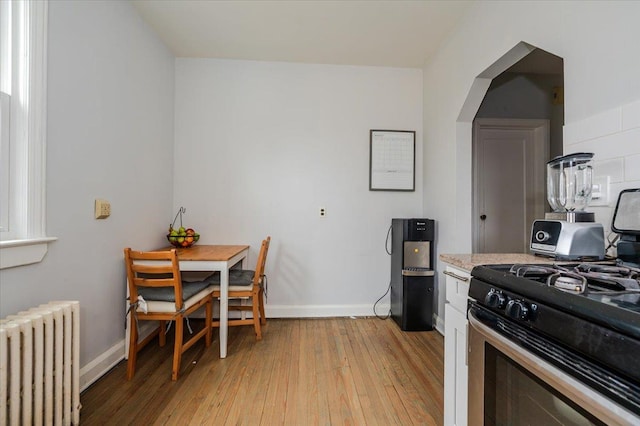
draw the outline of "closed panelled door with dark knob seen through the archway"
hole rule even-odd
[[[474,252],[526,253],[545,208],[546,120],[474,122]]]

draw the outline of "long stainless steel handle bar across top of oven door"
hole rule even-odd
[[[638,424],[638,417],[635,414],[622,406],[614,404],[610,399],[485,325],[474,315],[473,309],[469,310],[468,316],[470,334],[480,334],[485,342],[520,364],[540,380],[561,392],[571,401],[587,409],[601,421],[606,424]],[[474,341],[474,339],[469,336],[469,342],[472,341]],[[469,352],[483,350],[484,347],[469,346]],[[471,370],[471,365],[469,367]],[[475,367],[482,368],[481,366]]]

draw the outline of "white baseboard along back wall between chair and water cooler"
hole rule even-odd
[[[373,305],[266,305],[267,318],[370,317]],[[386,317],[389,304],[376,305],[378,316]]]

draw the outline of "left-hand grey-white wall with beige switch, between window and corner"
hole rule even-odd
[[[50,2],[48,56],[46,221],[58,240],[40,264],[0,271],[0,317],[80,300],[86,367],[123,353],[123,248],[163,244],[171,221],[174,59],[113,1]],[[111,217],[94,219],[95,198]]]

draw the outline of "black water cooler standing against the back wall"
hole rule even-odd
[[[405,331],[433,330],[434,225],[391,220],[391,318]]]

